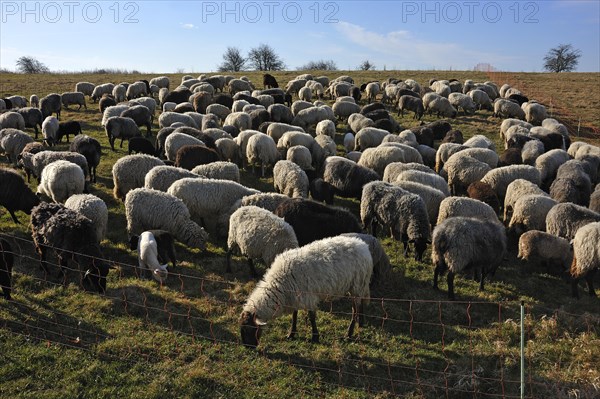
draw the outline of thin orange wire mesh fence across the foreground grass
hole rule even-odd
[[[15,262],[39,264],[31,243],[8,236]],[[30,342],[59,345],[86,351],[102,359],[128,362],[175,359],[189,346],[240,346],[238,315],[243,300],[236,292],[238,282],[170,273],[169,285],[139,280],[136,265],[105,260],[113,267],[104,294],[84,291],[85,270],[73,262],[63,272],[49,260],[49,272],[13,273],[20,290],[0,310],[0,329]],[[31,267],[31,266],[30,266]],[[35,267],[34,267],[35,269]],[[91,295],[97,310],[63,309],[48,305],[35,293],[59,295],[70,290]],[[161,295],[161,293],[169,295]],[[303,292],[294,292],[303,295]],[[403,395],[417,392],[422,397],[520,397],[519,304],[485,301],[432,301],[370,298],[366,327],[348,342],[344,331],[329,327],[337,320],[350,321],[347,299],[331,297],[319,310],[327,356],[318,358],[282,352],[278,344],[283,317],[263,336],[259,355],[268,362],[316,373],[324,383],[368,393]],[[60,303],[60,301],[58,302]],[[83,306],[83,305],[82,305]],[[139,324],[137,334],[160,336],[160,350],[148,350],[135,336],[124,353],[111,349],[115,335],[103,328],[107,318],[125,318]],[[548,347],[569,336],[600,330],[598,314],[572,314],[560,309],[525,307],[525,397],[594,397],[598,386],[553,379],[545,363],[569,357],[567,346]],[[308,334],[308,327],[301,328]],[[122,337],[120,337],[122,338]],[[546,344],[543,344],[546,342]],[[571,348],[572,349],[572,348]],[[566,352],[567,351],[567,352]],[[563,353],[564,352],[564,353]],[[571,367],[571,366],[569,366]],[[575,392],[575,393],[574,393]],[[575,395],[575,396],[574,396]]]

